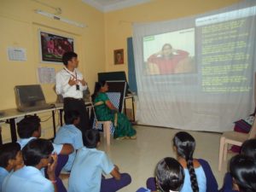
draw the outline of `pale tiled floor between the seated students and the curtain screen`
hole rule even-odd
[[[106,141],[102,138],[100,146],[101,150],[108,153],[113,163],[119,166],[120,172],[131,174],[131,184],[120,189],[120,192],[134,192],[140,187],[145,187],[147,178],[154,174],[156,163],[167,156],[175,157],[172,151],[172,137],[178,130],[142,125],[137,125],[135,128],[137,140],[111,140],[110,147],[107,147]],[[224,163],[222,172],[218,172],[220,134],[199,131],[189,131],[189,133],[196,141],[194,157],[209,162],[218,186],[222,186],[227,163]],[[232,154],[228,154],[228,160],[230,155]],[[67,185],[67,179],[64,183]]]

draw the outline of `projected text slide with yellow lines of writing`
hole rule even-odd
[[[251,90],[247,73],[253,70],[253,47],[248,38],[255,32],[251,26],[255,7],[237,10],[237,16],[234,14],[232,11],[196,20],[200,37],[197,62],[203,92]]]

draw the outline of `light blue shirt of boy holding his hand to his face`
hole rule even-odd
[[[24,166],[3,180],[3,192],[54,192],[54,185],[36,167]]]

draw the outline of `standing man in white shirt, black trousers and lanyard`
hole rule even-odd
[[[90,129],[88,113],[83,100],[83,90],[87,89],[87,84],[83,74],[79,72],[78,55],[74,52],[66,52],[62,56],[64,68],[56,73],[55,90],[64,99],[64,112],[77,110],[80,113],[78,128],[82,133]]]

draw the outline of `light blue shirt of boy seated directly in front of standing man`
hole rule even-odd
[[[73,166],[73,160],[76,157],[76,150],[84,146],[82,132],[75,125],[61,126],[56,134],[54,143],[69,143],[73,145],[75,150],[72,154],[68,155],[67,164],[64,166],[66,171],[70,171],[71,167]]]

